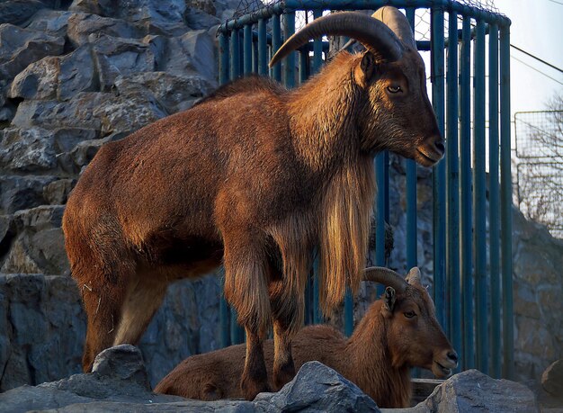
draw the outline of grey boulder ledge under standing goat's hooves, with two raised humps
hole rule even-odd
[[[154,394],[139,350],[121,345],[104,350],[93,373],[76,374],[37,387],[22,386],[0,394],[0,410],[57,411],[193,411],[193,412],[379,412],[373,400],[334,370],[317,362],[304,364],[295,379],[278,393],[262,393],[255,401],[203,402]]]

